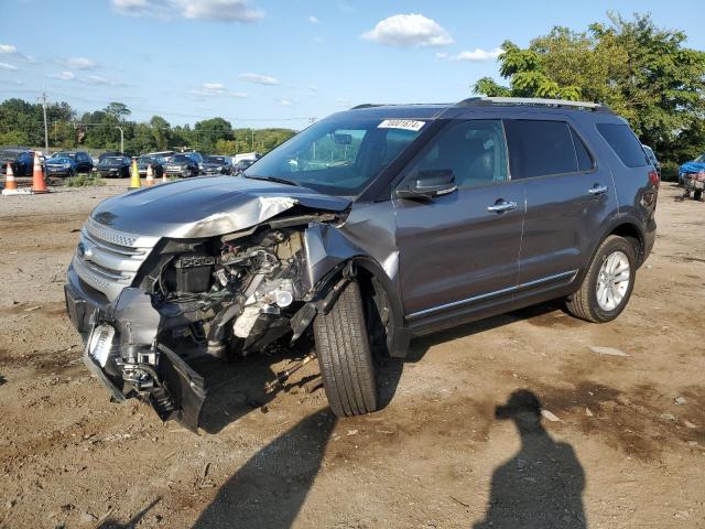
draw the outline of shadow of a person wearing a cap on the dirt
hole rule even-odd
[[[556,443],[541,425],[538,397],[514,391],[495,417],[514,421],[521,449],[492,474],[487,515],[474,529],[585,529],[585,473],[573,447]]]

